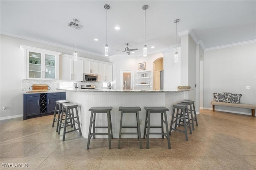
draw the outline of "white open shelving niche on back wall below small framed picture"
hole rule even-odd
[[[135,85],[149,86],[149,87],[152,86],[151,70],[139,70],[139,71],[136,71],[136,73],[137,73],[137,77],[135,79],[137,80],[137,83]]]

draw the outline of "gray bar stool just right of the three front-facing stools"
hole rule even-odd
[[[187,127],[189,128],[190,134],[192,134],[191,127],[190,127],[190,119],[188,119],[188,123],[186,122],[186,116],[189,117],[189,115],[188,115],[188,104],[178,103],[178,104],[173,105],[172,107],[173,107],[172,121],[171,121],[171,127],[170,127],[169,135],[171,135],[172,130],[179,131],[179,132],[185,133],[186,141],[188,141]],[[176,115],[175,115],[175,110],[177,110]],[[179,113],[179,110],[180,110],[180,113]],[[175,118],[175,120],[174,120],[174,118]],[[178,120],[179,120],[179,122],[178,122]],[[182,120],[184,125],[180,124],[180,120]],[[172,125],[174,123],[175,123],[175,126],[173,128]],[[177,125],[184,126],[184,131],[177,129]]]

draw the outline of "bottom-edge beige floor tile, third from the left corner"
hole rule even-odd
[[[102,157],[76,157],[68,170],[98,170]]]

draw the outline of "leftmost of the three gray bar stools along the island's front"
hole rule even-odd
[[[95,139],[95,135],[108,135],[108,144],[109,149],[111,149],[111,139],[113,139],[113,132],[112,132],[112,122],[111,122],[111,114],[113,107],[91,107],[89,111],[91,111],[91,118],[90,118],[90,125],[89,125],[89,133],[88,133],[88,141],[87,141],[87,149],[90,146],[90,139]],[[95,126],[95,117],[96,113],[107,113],[108,117],[108,126]],[[93,124],[93,130],[92,130]],[[95,133],[96,128],[108,128],[108,133]],[[91,132],[92,131],[92,132]]]

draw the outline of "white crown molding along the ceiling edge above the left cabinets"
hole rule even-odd
[[[52,42],[49,42],[49,41],[43,41],[41,39],[27,37],[27,36],[24,36],[24,35],[16,35],[16,34],[2,32],[2,31],[1,31],[1,34],[8,35],[8,36],[11,36],[11,37],[20,38],[20,39],[26,39],[28,41],[34,41],[34,42],[37,42],[37,43],[42,43],[42,44],[46,44],[46,45],[52,45],[52,46],[55,46],[55,47],[60,47],[60,48],[69,49],[69,50],[75,51],[75,49],[73,47],[69,47],[69,46],[66,46],[66,45],[61,45],[61,44],[58,44],[58,43],[52,43]],[[98,53],[93,53],[93,52],[82,50],[82,49],[76,49],[76,51],[79,51],[79,52],[82,52],[82,53],[86,53],[86,54],[96,55],[96,56],[100,56],[100,57],[105,57],[104,55],[100,55]]]

